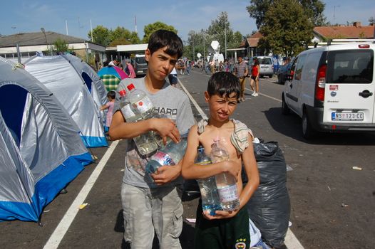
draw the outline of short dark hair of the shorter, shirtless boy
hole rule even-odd
[[[217,72],[214,73],[210,80],[208,80],[207,92],[210,96],[212,95],[223,95],[229,96],[232,92],[235,92],[237,99],[240,97],[241,85],[240,80],[235,75],[229,72]]]

